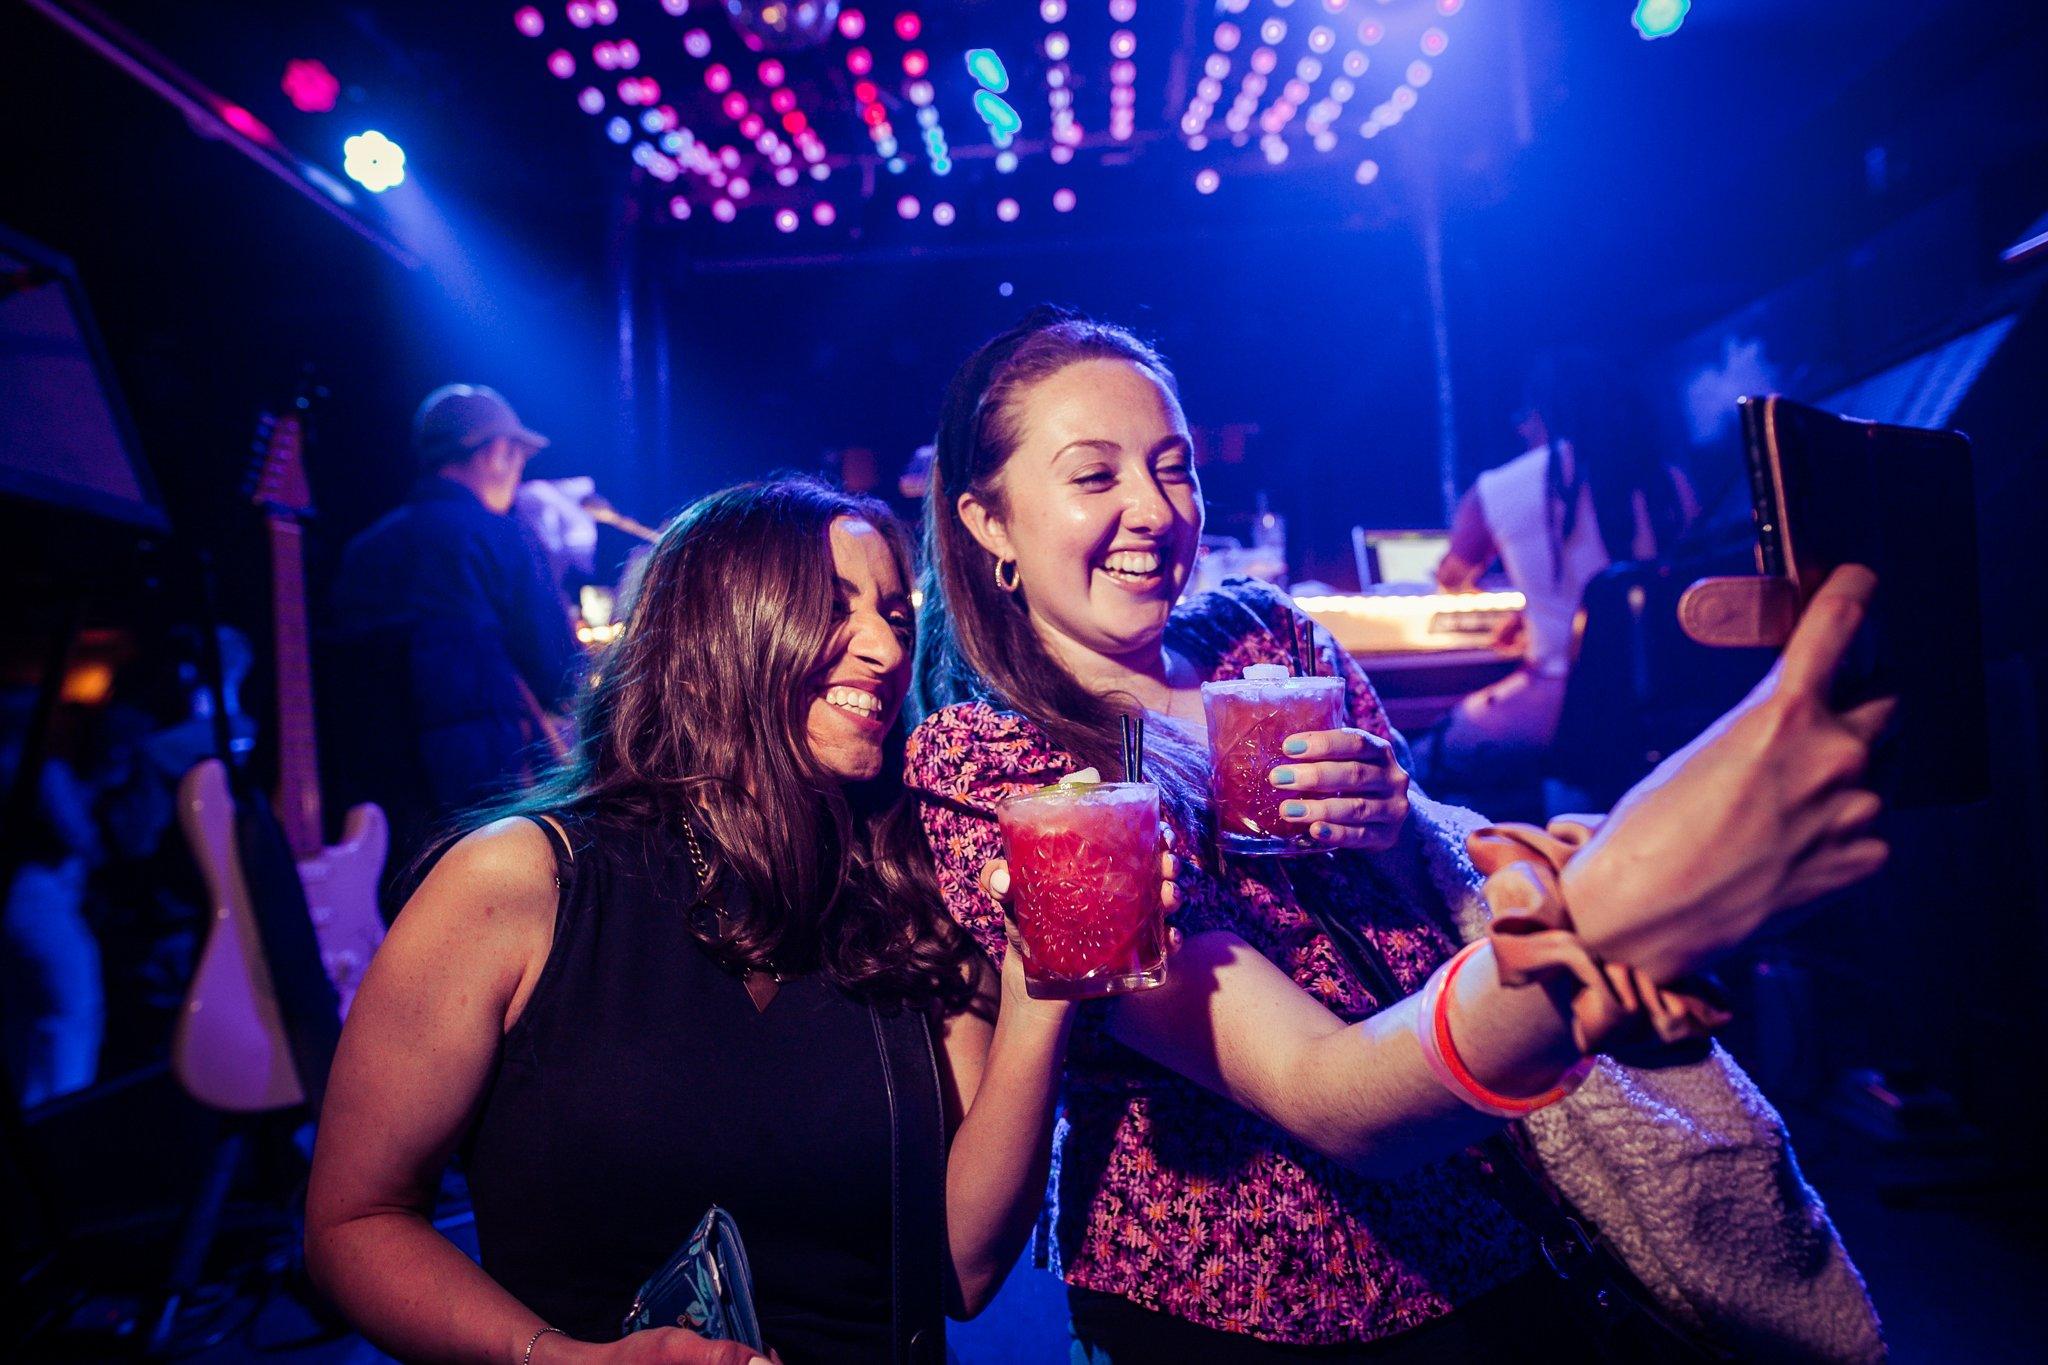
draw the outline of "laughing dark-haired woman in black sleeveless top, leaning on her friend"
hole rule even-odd
[[[662,536],[575,753],[432,864],[348,1015],[307,1263],[371,1340],[741,1365],[618,1338],[711,1205],[788,1365],[944,1359],[944,1314],[995,1293],[1069,1011],[938,902],[899,780],[911,643],[872,499],[780,479]],[[455,1152],[481,1267],[430,1222]]]

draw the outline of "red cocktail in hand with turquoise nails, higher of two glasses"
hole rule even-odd
[[[1288,677],[1278,665],[1253,665],[1241,681],[1202,684],[1202,714],[1223,851],[1315,851],[1309,825],[1280,814],[1290,792],[1272,784],[1272,769],[1290,761],[1280,747],[1288,735],[1343,726],[1343,679]]]

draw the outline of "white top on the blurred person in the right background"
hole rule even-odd
[[[1528,598],[1528,667],[1550,677],[1571,671],[1571,622],[1585,585],[1608,567],[1593,491],[1579,489],[1579,518],[1561,546],[1563,573],[1550,563],[1550,446],[1538,446],[1479,475],[1479,512],[1501,553],[1507,579]]]

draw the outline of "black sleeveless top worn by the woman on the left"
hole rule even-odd
[[[555,943],[467,1142],[483,1269],[551,1326],[614,1340],[719,1203],[786,1365],[889,1359],[889,1097],[866,1005],[793,976],[756,1011],[684,923],[696,878],[676,841],[573,821],[571,860],[541,825]]]

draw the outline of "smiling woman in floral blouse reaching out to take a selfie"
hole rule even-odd
[[[1587,841],[1483,831],[1413,790],[1372,684],[1278,589],[1182,600],[1188,424],[1120,327],[1040,309],[983,346],[946,393],[926,514],[905,782],[952,915],[1004,952],[977,880],[997,802],[1122,776],[1133,712],[1184,855],[1165,984],[1085,1011],[1067,1066],[1075,1359],[1597,1359],[1511,1195],[1507,1117],[1675,1328],[1749,1359],[1882,1351],[1776,1113],[1686,986],[1884,857],[1860,784],[1884,706],[1827,704],[1868,573],[1837,575],[1780,669]],[[1208,839],[1200,686],[1249,665],[1346,679],[1350,724],[1288,737],[1268,778],[1319,853]],[[1559,956],[1538,966],[1538,943]]]

